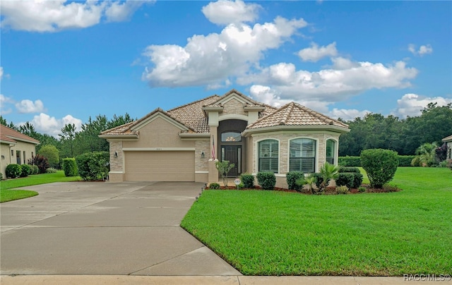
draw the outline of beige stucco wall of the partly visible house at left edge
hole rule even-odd
[[[13,150],[13,155],[11,156],[11,150]],[[36,155],[35,144],[29,142],[16,142],[16,145],[10,147],[9,144],[2,143],[0,148],[0,154],[4,156],[4,159],[0,157],[0,169],[3,177],[6,178],[5,169],[8,164],[16,164],[17,157],[16,151],[20,151],[20,164],[27,164],[28,159]],[[25,159],[23,152],[25,151]]]

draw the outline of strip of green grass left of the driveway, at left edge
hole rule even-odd
[[[66,177],[63,171],[52,174],[37,174],[23,178],[14,178],[0,181],[0,202],[8,202],[37,195],[30,190],[13,190],[14,188],[39,185],[52,182],[79,181],[80,176]]]

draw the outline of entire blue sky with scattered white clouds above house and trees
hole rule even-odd
[[[451,1],[1,1],[1,115],[57,135],[232,88],[334,118],[452,102]]]

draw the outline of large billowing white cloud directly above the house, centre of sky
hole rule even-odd
[[[151,87],[225,84],[258,63],[263,51],[276,49],[307,23],[303,19],[275,18],[273,23],[227,25],[220,34],[194,35],[185,47],[151,45],[145,49],[153,68],[143,80]]]

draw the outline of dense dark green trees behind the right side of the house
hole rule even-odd
[[[436,143],[452,135],[452,104],[438,106],[429,103],[420,116],[397,116],[367,114],[352,121],[343,121],[350,128],[349,133],[340,135],[339,156],[359,156],[362,150],[381,148],[394,150],[400,155],[415,155],[424,143]]]

